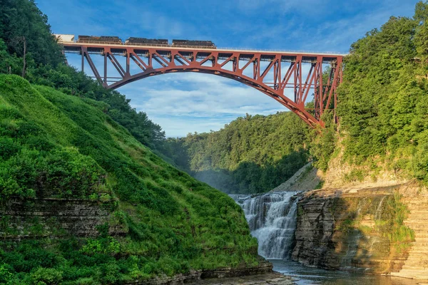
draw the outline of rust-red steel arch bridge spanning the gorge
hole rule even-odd
[[[325,126],[321,116],[328,110],[335,115],[337,86],[342,82],[342,54],[111,43],[73,42],[62,45],[64,53],[81,55],[81,71],[87,63],[96,80],[106,88],[119,88],[165,73],[209,73],[260,90],[292,110],[312,128]],[[102,73],[91,55],[103,56]],[[112,66],[118,76],[108,76],[108,66]],[[326,66],[330,67],[330,72],[323,76]],[[287,96],[287,88],[291,88],[291,96],[288,95],[294,98]],[[305,108],[305,104],[312,100],[314,108]]]

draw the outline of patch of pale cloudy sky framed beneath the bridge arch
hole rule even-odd
[[[258,90],[200,73],[146,78],[119,91],[131,98],[134,108],[161,125],[168,136],[218,130],[246,113],[269,115],[287,110]]]

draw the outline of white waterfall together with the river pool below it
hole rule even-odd
[[[302,266],[290,260],[297,222],[298,192],[272,192],[265,195],[230,195],[245,212],[251,234],[258,239],[258,253],[273,264],[273,269],[295,278],[297,285],[308,284],[382,284],[415,285],[420,281],[391,276],[327,271]]]

